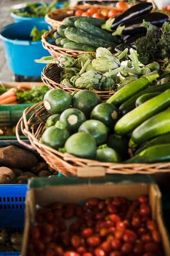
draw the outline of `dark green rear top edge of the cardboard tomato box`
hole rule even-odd
[[[77,184],[102,184],[102,183],[155,183],[154,175],[142,175],[142,174],[108,174],[101,178],[79,178],[73,177],[53,177],[53,178],[33,178],[29,180],[29,188],[38,189],[45,186],[63,186],[63,185],[77,185]]]

